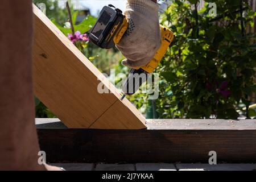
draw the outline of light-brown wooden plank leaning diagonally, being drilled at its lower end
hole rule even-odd
[[[34,92],[67,127],[88,128],[98,118],[106,119],[104,113],[115,103],[119,103],[118,113],[126,118],[121,120],[112,110],[108,129],[146,127],[139,111],[119,100],[114,85],[35,5],[34,24]],[[98,93],[99,84],[110,93]],[[105,125],[96,128],[105,129]]]

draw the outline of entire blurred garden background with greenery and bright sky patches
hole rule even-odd
[[[65,34],[72,34],[67,1],[33,0]],[[159,99],[128,97],[146,118],[255,118],[256,0],[158,1],[160,23],[175,39],[156,73]],[[69,1],[75,31],[86,34],[109,4],[125,10],[126,1]],[[211,14],[210,12],[216,12]],[[121,53],[90,42],[75,45],[102,72],[129,72]],[[117,83],[121,77],[115,77]],[[35,98],[36,117],[56,117]]]

